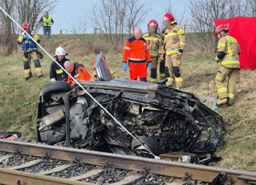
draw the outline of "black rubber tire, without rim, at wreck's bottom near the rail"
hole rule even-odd
[[[162,152],[161,145],[152,138],[145,137],[145,136],[138,136],[136,137],[145,147],[147,147],[154,155],[159,156]],[[136,149],[140,147],[141,144],[138,143],[135,139],[132,140],[132,151],[136,153]]]

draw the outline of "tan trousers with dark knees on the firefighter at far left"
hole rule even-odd
[[[38,77],[42,76],[43,72],[42,72],[41,64],[40,64],[39,58],[37,57],[36,51],[31,51],[31,52],[28,52],[27,58],[23,57],[23,67],[24,67],[25,78],[32,77],[31,66],[30,66],[31,61],[34,62],[37,76]]]

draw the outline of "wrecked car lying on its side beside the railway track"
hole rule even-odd
[[[222,140],[220,115],[185,91],[124,78],[113,79],[104,56],[100,81],[79,81],[150,152],[211,153]],[[44,85],[37,109],[37,141],[74,148],[152,157],[76,83]]]

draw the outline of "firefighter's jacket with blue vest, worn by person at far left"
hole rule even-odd
[[[27,35],[25,32],[22,32],[21,35],[19,36],[17,42],[18,44],[21,44],[21,48],[23,51],[27,51],[27,52],[30,52],[30,51],[35,51],[37,50],[37,46],[36,46],[36,43],[34,41],[30,41],[28,39],[24,39],[23,36],[24,35]],[[29,32],[29,35],[31,37],[33,37],[33,39],[35,39],[35,41],[37,43],[40,42],[40,38],[39,36],[34,32],[34,31],[30,31]]]

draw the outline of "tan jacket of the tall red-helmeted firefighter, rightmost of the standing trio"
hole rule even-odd
[[[167,27],[164,32],[164,44],[161,54],[172,55],[175,53],[183,53],[186,45],[185,32],[176,23]]]

